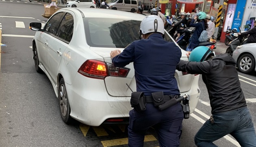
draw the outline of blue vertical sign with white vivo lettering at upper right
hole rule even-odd
[[[234,14],[234,20],[232,24],[232,29],[236,28],[239,31],[239,27],[242,25],[243,13],[245,11],[246,0],[237,0],[236,12]],[[241,27],[242,28],[242,27]]]

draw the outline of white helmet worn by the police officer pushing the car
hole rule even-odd
[[[159,32],[165,34],[163,20],[157,15],[149,15],[141,21],[139,28],[142,34]]]

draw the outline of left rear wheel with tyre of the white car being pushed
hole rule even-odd
[[[70,116],[70,106],[69,106],[69,100],[67,97],[67,90],[65,86],[64,79],[61,78],[61,81],[59,82],[59,108],[61,112],[61,118],[66,123],[69,124],[72,122],[73,118]]]

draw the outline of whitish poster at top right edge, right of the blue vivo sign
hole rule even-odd
[[[255,0],[247,0],[245,5],[245,11],[243,15],[241,31],[247,31],[249,28],[245,28],[246,25],[250,28],[253,28],[254,24],[252,23],[256,18],[256,1]]]

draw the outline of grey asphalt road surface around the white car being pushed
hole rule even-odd
[[[67,125],[61,120],[59,103],[45,74],[35,71],[29,23],[45,23],[43,4],[28,0],[0,0],[2,25],[0,66],[0,147],[127,147],[124,125],[91,127],[78,122]],[[17,27],[16,22],[25,27]],[[17,36],[22,35],[22,36]],[[224,47],[223,47],[224,48]],[[256,76],[239,73],[254,124]],[[197,109],[184,120],[180,147],[195,147],[197,130],[210,117],[206,87],[200,78],[201,95]],[[150,129],[145,147],[157,147],[157,134]],[[219,147],[236,147],[230,136],[215,141]]]

